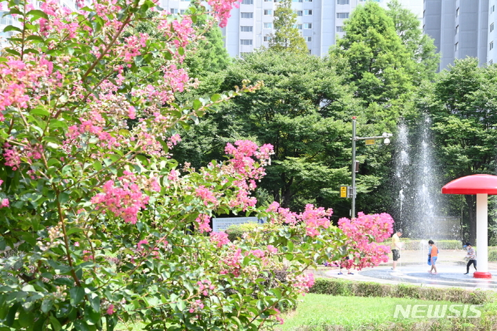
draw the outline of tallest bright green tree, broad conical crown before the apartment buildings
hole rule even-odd
[[[411,99],[417,68],[413,56],[386,10],[373,1],[355,8],[344,31],[330,55],[345,59],[342,70],[349,74],[355,95],[369,108],[369,122],[393,129]]]

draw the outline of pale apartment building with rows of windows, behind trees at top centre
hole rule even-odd
[[[222,29],[228,54],[237,57],[256,48],[268,46],[269,35],[274,32],[274,12],[278,0],[242,0],[240,8],[231,10],[228,25]],[[376,1],[386,7],[388,0],[293,0],[297,14],[297,28],[304,37],[309,53],[328,54],[337,37],[344,34],[344,21],[351,12],[366,1]],[[401,0],[403,6],[422,15],[422,0]],[[172,13],[184,12],[189,1],[162,0],[163,8]]]

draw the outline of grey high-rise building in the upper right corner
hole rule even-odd
[[[440,70],[465,57],[478,57],[480,65],[496,61],[496,4],[497,0],[425,0],[423,31],[435,40]]]

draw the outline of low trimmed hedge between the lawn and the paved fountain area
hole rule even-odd
[[[494,291],[464,290],[456,287],[438,288],[404,284],[353,282],[332,278],[317,278],[309,292],[333,296],[389,296],[392,298],[451,301],[472,305],[488,303],[497,298],[497,294]]]

